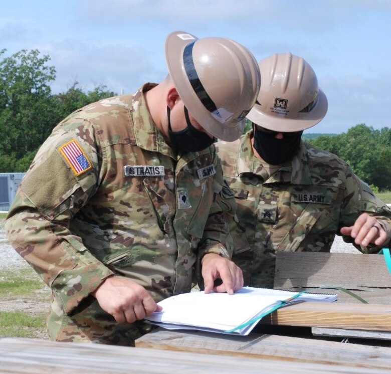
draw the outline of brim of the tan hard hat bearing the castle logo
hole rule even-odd
[[[273,131],[294,132],[305,130],[319,123],[327,113],[327,97],[320,88],[318,90],[316,106],[300,119],[267,115],[260,110],[261,106],[259,104],[254,104],[246,118],[259,126]]]

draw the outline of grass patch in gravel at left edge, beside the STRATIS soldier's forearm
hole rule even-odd
[[[24,296],[46,287],[32,268],[0,271],[0,296]]]

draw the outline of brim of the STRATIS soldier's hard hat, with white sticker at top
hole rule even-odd
[[[197,40],[197,37],[184,31],[175,31],[167,36],[165,41],[165,58],[168,72],[180,99],[195,120],[217,138],[234,141],[242,134],[245,120],[228,123],[219,122],[201,102],[187,77],[183,65],[183,51],[189,43]]]

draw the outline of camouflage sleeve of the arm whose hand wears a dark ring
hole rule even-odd
[[[391,210],[376,197],[366,183],[348,168],[339,229],[343,226],[352,226],[362,213],[376,217],[387,235],[385,243],[381,246],[370,244],[367,247],[362,247],[354,244],[354,240],[349,236],[342,236],[343,240],[347,243],[352,243],[354,247],[363,253],[377,253],[383,247],[389,248],[391,240]]]

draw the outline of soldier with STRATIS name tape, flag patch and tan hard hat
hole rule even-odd
[[[243,286],[225,222],[234,199],[212,143],[243,131],[258,64],[229,39],[176,32],[165,48],[163,82],[54,128],[8,214],[10,242],[53,291],[53,340],[134,344],[156,302],[190,291],[194,269],[205,292]]]

